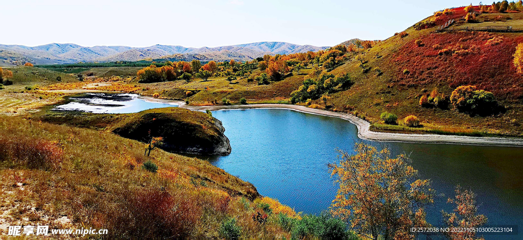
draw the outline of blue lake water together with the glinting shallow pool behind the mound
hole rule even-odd
[[[134,94],[115,97],[95,94],[73,99],[75,105],[67,106],[70,102],[57,109],[128,113],[173,106],[146,102]],[[353,152],[354,143],[361,141],[355,125],[334,117],[282,109],[212,114],[222,121],[232,152],[228,156],[198,157],[253,183],[260,194],[304,213],[328,209],[337,186],[327,163],[337,161],[336,149]],[[461,185],[477,194],[479,213],[486,215],[488,224],[523,227],[523,148],[368,142],[378,148],[388,146],[395,155],[410,154],[419,177],[431,179],[434,189],[445,195],[427,209],[431,224],[441,225],[441,210],[452,211],[447,198],[454,196],[456,185]],[[487,235],[486,239],[522,236]]]

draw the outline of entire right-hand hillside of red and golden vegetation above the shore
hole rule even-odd
[[[446,26],[449,20],[454,21]],[[523,43],[520,30],[521,11],[501,13],[490,6],[438,11],[370,49],[348,51],[348,60],[332,73],[348,73],[354,85],[329,94],[328,107],[367,119],[373,130],[523,136],[523,76],[514,66],[516,46]],[[492,92],[496,111],[458,110],[449,97],[460,86]],[[397,124],[384,124],[383,112],[396,114]],[[410,115],[420,126],[404,123]]]

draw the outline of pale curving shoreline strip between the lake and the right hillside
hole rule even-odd
[[[470,137],[438,134],[403,134],[385,133],[370,130],[370,123],[347,113],[331,112],[322,109],[312,109],[301,105],[261,103],[245,105],[208,105],[208,106],[189,106],[184,101],[154,99],[152,97],[141,96],[146,101],[175,103],[178,107],[192,111],[218,111],[218,110],[246,110],[246,109],[286,109],[302,113],[336,117],[344,119],[358,128],[358,137],[363,140],[384,141],[384,142],[406,142],[406,143],[427,143],[427,144],[453,144],[453,145],[475,145],[491,147],[523,147],[523,139],[505,137]]]

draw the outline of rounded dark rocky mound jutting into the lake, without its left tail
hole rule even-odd
[[[122,137],[148,142],[163,137],[162,149],[170,152],[229,155],[231,145],[222,123],[206,113],[177,107],[136,113],[113,129]]]

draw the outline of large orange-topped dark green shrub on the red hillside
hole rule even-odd
[[[460,86],[450,95],[450,103],[458,111],[472,114],[492,114],[497,110],[497,101],[492,92],[477,90],[476,86]]]

